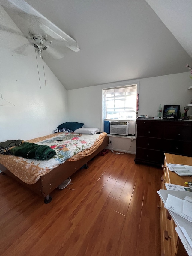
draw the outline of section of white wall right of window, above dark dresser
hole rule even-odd
[[[161,77],[151,77],[140,81],[140,115],[147,113],[148,116],[157,116],[159,104],[181,105],[180,112],[184,113],[185,104],[191,101],[190,72],[172,74]],[[189,110],[188,113],[191,113]]]

